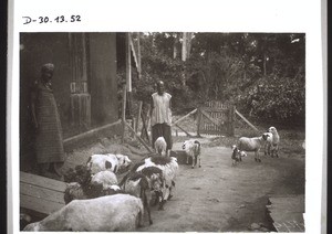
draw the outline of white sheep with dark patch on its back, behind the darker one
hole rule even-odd
[[[175,187],[175,178],[178,171],[177,159],[174,157],[152,156],[144,160],[142,166],[137,167],[136,171],[142,171],[144,168],[157,167],[163,171],[165,179],[165,188],[163,190],[162,208],[166,200],[173,196],[173,188]]]

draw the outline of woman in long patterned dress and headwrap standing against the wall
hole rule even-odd
[[[31,95],[37,163],[40,174],[44,177],[61,176],[59,169],[64,162],[62,127],[51,86],[53,71],[51,63],[41,67],[41,77],[35,81]]]

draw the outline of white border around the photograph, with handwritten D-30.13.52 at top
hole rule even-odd
[[[81,23],[23,25],[22,17],[81,14]],[[13,19],[13,22],[11,21]],[[307,34],[305,233],[321,232],[323,73],[321,2],[318,0],[14,0],[9,1],[8,192],[10,233],[19,225],[20,32],[303,32]],[[12,30],[12,31],[11,31]],[[12,193],[11,185],[12,184]],[[11,198],[12,202],[11,203]],[[10,211],[9,211],[10,212]],[[11,230],[12,228],[12,230]]]

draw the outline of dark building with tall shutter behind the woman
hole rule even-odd
[[[138,44],[137,44],[138,40]],[[132,66],[141,74],[139,36],[135,33],[20,34],[20,155],[32,152],[30,93],[41,66],[53,63],[53,92],[64,139],[120,119],[121,81],[131,92]],[[125,71],[121,77],[118,71]],[[122,134],[115,125],[107,135]]]

